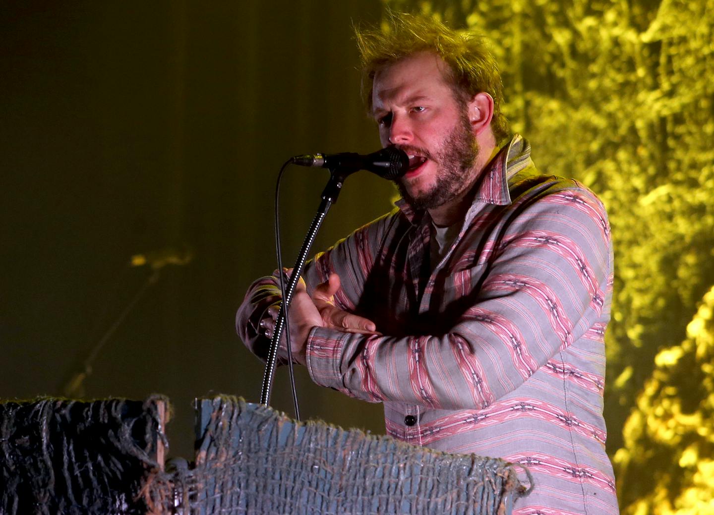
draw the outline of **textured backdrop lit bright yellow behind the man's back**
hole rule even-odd
[[[485,32],[538,168],[608,208],[623,515],[714,514],[714,0],[388,4]]]

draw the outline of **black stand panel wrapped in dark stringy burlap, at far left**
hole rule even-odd
[[[0,515],[144,514],[164,397],[0,404]]]

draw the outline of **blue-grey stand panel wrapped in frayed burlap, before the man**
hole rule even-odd
[[[499,514],[525,493],[500,459],[453,455],[235,397],[197,402],[196,463],[171,481],[183,514]]]

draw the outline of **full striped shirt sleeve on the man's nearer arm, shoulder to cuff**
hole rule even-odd
[[[315,327],[314,382],[371,402],[484,409],[601,320],[610,231],[585,188],[515,206],[473,303],[443,335],[353,335]],[[476,286],[475,286],[476,287]]]

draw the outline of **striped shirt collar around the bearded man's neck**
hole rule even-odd
[[[519,171],[531,164],[531,144],[523,136],[516,134],[483,169],[482,178],[478,180],[476,195],[466,218],[471,218],[478,210],[479,204],[508,205],[511,203],[511,193],[508,192],[508,180]],[[423,211],[417,211],[400,198],[396,205],[411,223],[418,223]]]

